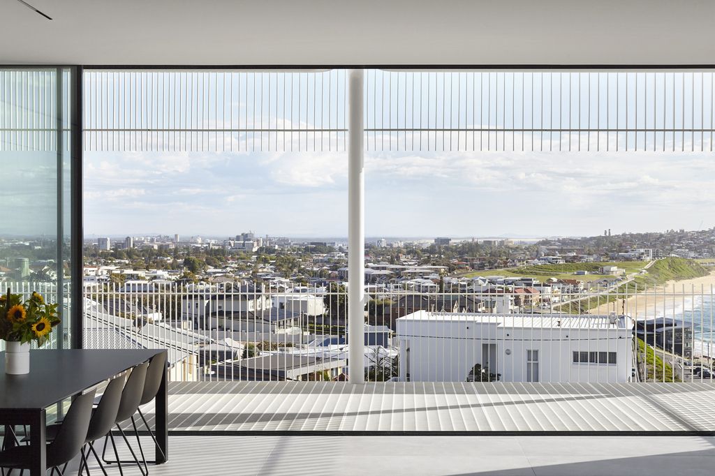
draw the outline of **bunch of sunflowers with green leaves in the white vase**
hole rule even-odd
[[[22,294],[0,296],[0,339],[8,342],[32,342],[40,347],[49,339],[52,328],[59,324],[57,304],[47,304],[44,297],[33,292],[29,299]]]

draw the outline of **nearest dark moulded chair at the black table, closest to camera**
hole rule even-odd
[[[82,461],[85,462],[82,447],[87,439],[89,420],[92,419],[94,392],[95,390],[92,390],[74,399],[57,430],[56,437],[47,444],[47,467],[52,468],[50,476],[55,472],[59,476],[64,476],[67,463],[78,454],[82,454]],[[29,470],[32,455],[31,445],[11,447],[0,453],[0,467],[9,470]],[[61,465],[64,467],[60,470]]]

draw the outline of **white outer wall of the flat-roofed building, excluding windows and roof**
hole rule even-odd
[[[527,381],[528,349],[539,351],[540,382],[613,383],[631,377],[631,339],[626,329],[531,329],[500,327],[495,322],[398,319],[397,334],[400,362],[405,362],[404,347],[409,341],[413,382],[464,382],[475,364],[486,365],[482,344],[488,343],[497,345],[496,369],[490,365],[490,371],[501,373],[502,382]],[[574,364],[573,351],[617,352],[617,363]]]

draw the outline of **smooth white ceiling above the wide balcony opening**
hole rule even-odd
[[[715,64],[712,0],[28,1],[2,64]]]

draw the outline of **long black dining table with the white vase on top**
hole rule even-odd
[[[30,372],[5,373],[0,352],[0,425],[28,425],[34,457],[31,476],[46,472],[46,409],[119,373],[146,362],[166,349],[37,349],[30,352]],[[154,400],[157,464],[168,455],[167,372]],[[8,428],[6,427],[6,437]]]

